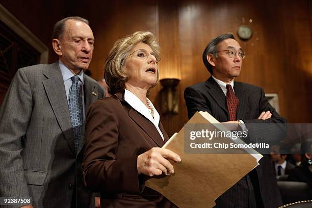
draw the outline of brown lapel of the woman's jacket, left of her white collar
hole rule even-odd
[[[152,122],[145,118],[142,114],[133,109],[125,100],[124,100],[124,91],[118,92],[115,94],[121,102],[126,103],[129,106],[128,115],[134,122],[142,128],[142,130],[159,146],[162,147],[165,143],[162,137],[159,135],[156,127]],[[163,131],[162,131],[163,132]],[[164,138],[165,138],[165,134]],[[168,137],[168,136],[167,136]]]

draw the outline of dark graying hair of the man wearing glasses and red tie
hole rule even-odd
[[[230,33],[219,35],[218,37],[210,41],[208,45],[206,46],[206,48],[204,49],[202,53],[202,61],[204,62],[204,65],[206,66],[206,68],[211,74],[213,74],[213,68],[212,68],[212,65],[207,60],[207,55],[213,54],[215,55],[215,57],[218,57],[218,54],[217,54],[217,51],[219,49],[218,44],[222,42],[223,40],[229,39],[229,38],[235,39],[233,34],[230,34]]]

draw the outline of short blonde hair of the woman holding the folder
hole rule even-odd
[[[127,81],[124,72],[125,61],[132,48],[138,43],[145,43],[152,49],[155,58],[160,58],[160,46],[154,34],[148,31],[138,31],[132,35],[117,40],[110,50],[104,65],[104,79],[109,86],[111,95],[121,91]]]

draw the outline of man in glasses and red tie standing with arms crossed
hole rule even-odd
[[[185,90],[188,115],[209,112],[220,122],[284,123],[269,104],[264,90],[253,85],[234,82],[240,75],[245,53],[231,34],[213,39],[203,52],[203,62],[212,76],[205,82]],[[278,207],[282,204],[268,155],[260,165],[216,200],[216,207]],[[230,173],[229,173],[230,174]]]

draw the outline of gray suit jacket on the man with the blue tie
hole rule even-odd
[[[84,94],[86,110],[105,97],[87,75]],[[76,152],[58,63],[19,69],[0,109],[0,196],[32,197],[40,208],[68,208],[77,196],[77,207],[89,207],[92,193],[82,183],[84,140]]]

